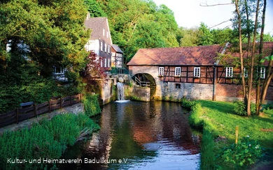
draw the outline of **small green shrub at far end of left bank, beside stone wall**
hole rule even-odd
[[[88,93],[84,96],[83,105],[87,116],[94,116],[101,112],[98,98],[99,95],[90,95]]]

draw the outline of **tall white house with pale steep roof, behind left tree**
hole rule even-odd
[[[97,59],[103,68],[111,68],[111,46],[112,39],[107,17],[89,17],[85,20],[85,27],[90,29],[90,39],[85,49],[97,54]]]

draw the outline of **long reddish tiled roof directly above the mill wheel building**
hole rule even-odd
[[[127,65],[214,65],[221,45],[139,49]]]

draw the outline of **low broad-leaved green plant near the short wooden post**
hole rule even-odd
[[[222,157],[225,162],[230,162],[234,167],[249,166],[262,157],[262,148],[257,141],[244,137],[238,141],[238,144],[223,148]]]

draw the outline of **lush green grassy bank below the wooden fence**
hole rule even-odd
[[[54,168],[51,160],[58,160],[67,147],[99,130],[90,118],[101,112],[97,97],[86,95],[84,103],[2,127],[0,169]]]

